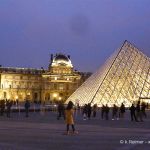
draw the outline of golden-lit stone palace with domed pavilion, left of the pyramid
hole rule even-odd
[[[0,99],[49,102],[61,97],[65,101],[78,87],[80,79],[81,75],[73,69],[70,56],[64,54],[51,57],[48,69],[1,66]]]

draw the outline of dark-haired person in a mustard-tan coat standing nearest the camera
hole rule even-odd
[[[73,113],[74,113],[73,102],[69,101],[68,105],[66,107],[66,110],[65,110],[65,116],[66,116],[65,122],[67,125],[67,134],[69,134],[69,126],[70,125],[72,126],[73,133],[75,133]]]

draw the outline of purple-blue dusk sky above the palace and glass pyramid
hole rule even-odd
[[[51,53],[96,71],[128,40],[150,56],[150,0],[0,0],[0,64],[47,68]]]

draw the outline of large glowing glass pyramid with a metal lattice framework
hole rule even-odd
[[[128,107],[139,98],[150,100],[150,58],[125,41],[66,103],[70,100],[81,106],[124,103]]]

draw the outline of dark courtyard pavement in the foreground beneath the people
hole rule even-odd
[[[63,118],[56,112],[12,113],[0,116],[0,150],[150,150],[150,111],[144,122],[131,122],[129,112],[120,120],[83,120],[75,114],[77,135],[63,135]],[[110,114],[111,115],[111,114]]]

